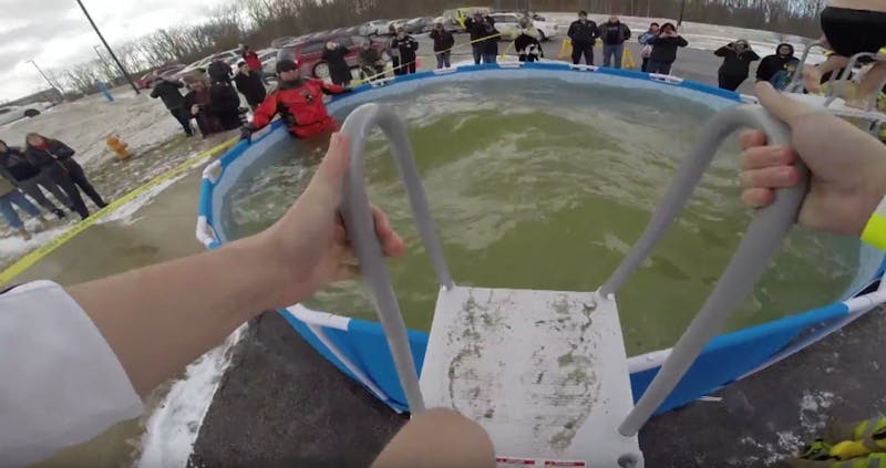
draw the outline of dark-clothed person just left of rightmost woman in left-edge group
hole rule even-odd
[[[0,141],[0,176],[16,184],[19,190],[33,198],[47,211],[55,215],[59,219],[65,218],[65,212],[53,205],[40,187],[49,190],[62,206],[70,206],[71,200],[52,179],[28,162],[21,149],[7,146],[3,141]]]

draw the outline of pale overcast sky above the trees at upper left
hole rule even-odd
[[[83,0],[113,45],[158,28],[198,21],[223,0]],[[75,0],[0,0],[0,102],[49,87],[28,63],[58,69],[90,60],[101,44]]]

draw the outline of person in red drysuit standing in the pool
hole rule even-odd
[[[323,94],[341,94],[347,87],[321,80],[302,79],[298,63],[281,60],[277,63],[280,87],[271,93],[256,110],[253,122],[243,127],[243,139],[267,126],[278,113],[289,132],[299,138],[310,138],[338,129],[338,122],[326,110]]]

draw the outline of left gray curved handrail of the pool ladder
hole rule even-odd
[[[344,180],[341,201],[341,215],[348,237],[360,262],[363,279],[372,293],[373,305],[381,320],[388,346],[394,360],[400,385],[406,395],[410,412],[419,414],[424,410],[424,399],[419,387],[419,374],[412,361],[412,351],[406,334],[406,325],[400,313],[400,304],[391,285],[391,277],[384,264],[382,247],[375,236],[372,210],[365,189],[364,153],[365,139],[373,127],[380,127],[391,142],[391,150],[396,163],[400,178],[406,187],[412,214],[421,235],[422,242],[431,256],[437,280],[445,289],[452,289],[453,282],[443,259],[443,249],[436,236],[434,222],[427,209],[419,170],[415,166],[412,146],[403,122],[390,106],[382,104],[363,104],[354,110],[342,126],[342,133],[350,137],[351,166]]]

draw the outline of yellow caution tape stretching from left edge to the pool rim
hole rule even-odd
[[[199,163],[204,162],[205,159],[208,159],[208,158],[210,158],[210,157],[213,157],[213,156],[215,156],[215,155],[228,149],[229,147],[234,146],[236,143],[237,143],[237,138],[231,138],[231,139],[225,142],[225,143],[223,143],[223,144],[220,144],[218,146],[215,146],[215,147],[213,147],[210,149],[207,149],[207,150],[205,150],[203,153],[199,153],[196,156],[189,157],[187,160],[185,160],[184,163],[182,163],[178,166],[174,167],[173,169],[169,169],[168,171],[166,171],[166,173],[157,176],[156,178],[152,179],[147,184],[145,184],[145,185],[136,188],[135,190],[132,190],[128,194],[126,194],[126,195],[117,198],[116,200],[112,201],[106,207],[102,208],[101,210],[96,211],[95,214],[93,214],[89,218],[78,222],[76,225],[74,225],[73,227],[71,227],[66,231],[64,231],[64,233],[62,233],[61,236],[52,239],[48,243],[44,243],[43,246],[41,246],[37,250],[28,252],[28,254],[25,254],[24,257],[19,259],[19,261],[17,261],[16,263],[11,264],[9,268],[3,270],[3,272],[0,273],[0,284],[6,284],[6,283],[12,281],[12,279],[14,279],[19,274],[23,273],[29,268],[33,267],[34,263],[40,261],[43,257],[50,254],[53,250],[55,250],[59,247],[63,246],[64,243],[69,242],[71,239],[76,237],[79,233],[85,231],[90,226],[101,221],[107,215],[114,212],[117,208],[120,208],[120,207],[133,201],[140,195],[146,193],[147,190],[151,190],[152,188],[163,184],[164,181],[173,179],[175,177],[178,177],[178,176],[187,173],[188,170],[190,170],[190,168],[195,164],[199,164]]]

